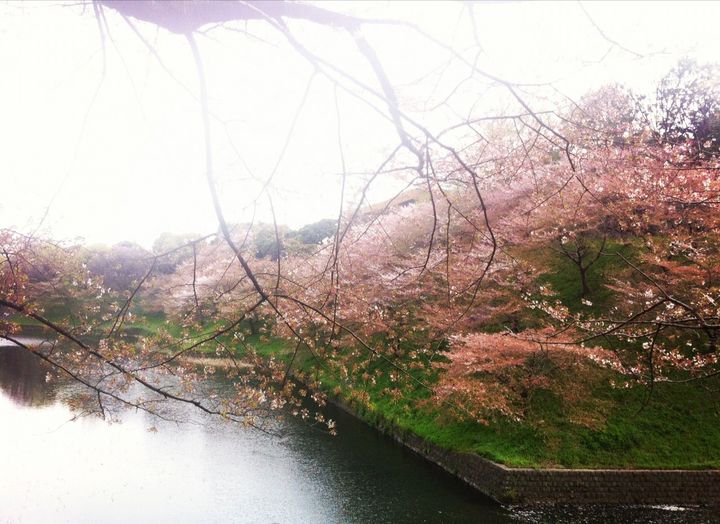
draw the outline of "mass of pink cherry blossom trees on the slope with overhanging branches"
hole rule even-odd
[[[615,86],[579,103],[563,99],[537,110],[539,97],[528,92],[542,86],[484,71],[470,53],[403,21],[284,1],[91,5],[103,42],[110,36],[107,19],[119,17],[163,68],[144,24],[184,39],[197,76],[191,90],[197,120],[188,125],[203,130],[202,175],[218,233],[136,253],[121,283],[110,282],[114,270],[89,271],[72,246],[1,233],[0,305],[10,317],[3,318],[1,334],[27,347],[14,337],[16,319],[24,316],[53,342],[63,340],[65,349],[27,349],[86,386],[84,409],[105,415],[129,405],[166,416],[173,401],[259,427],[263,416],[288,406],[310,417],[305,390],[291,379],[295,374],[319,386],[312,373],[299,370],[301,351],[340,383],[377,383],[383,375],[393,394],[401,386],[424,388],[479,419],[521,416],[536,388],[569,395],[563,380],[571,374],[547,372],[548,362],[556,370],[602,365],[650,384],[717,372],[720,166],[716,156],[698,154],[700,146],[703,152],[715,147],[717,100],[708,92],[695,107],[695,98],[686,96],[702,90],[702,82],[690,81],[692,89],[679,93],[666,80],[657,106],[633,105],[632,94]],[[472,21],[473,6],[464,9]],[[346,199],[349,173],[340,141],[340,211],[302,248],[277,221],[233,227],[219,195],[213,133],[224,122],[212,111],[201,36],[234,30],[252,37],[246,24],[273,31],[335,93],[359,99],[394,133],[390,153],[366,174],[355,201]],[[478,52],[469,26],[476,42],[471,51]],[[307,31],[298,28],[318,27],[333,30],[338,44],[352,45],[366,66],[362,74],[307,45]],[[441,125],[432,115],[418,116],[396,92],[382,49],[366,36],[376,28],[425,39],[448,64],[463,68],[467,80],[444,93],[439,106],[465,84],[501,92],[506,104],[476,109],[466,97],[463,116],[451,112]],[[684,70],[676,76],[687,78]],[[692,130],[681,129],[684,124]],[[383,205],[368,206],[374,181],[391,176],[405,187]],[[274,213],[270,178],[255,203],[267,199]],[[618,241],[635,246],[635,255],[609,248]],[[605,284],[616,297],[608,311],[576,313],[556,299],[538,279],[549,268],[528,256],[545,248],[574,264],[578,298],[586,301],[595,291],[587,277],[593,265],[618,259],[622,270]],[[68,298],[73,322],[43,314],[49,287]],[[141,300],[166,314],[168,326],[155,337],[130,340],[122,328]],[[289,358],[259,355],[246,339],[261,334],[284,338]],[[237,346],[245,348],[241,357]],[[199,349],[231,361],[231,395],[197,394],[213,373],[185,359]],[[324,402],[318,393],[315,400]],[[315,417],[333,428],[321,414]]]

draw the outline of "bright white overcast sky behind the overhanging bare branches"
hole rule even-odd
[[[484,70],[551,83],[571,97],[609,82],[649,91],[680,57],[707,62],[720,49],[715,2],[490,2],[473,4],[473,18],[459,2],[322,5],[406,20],[432,36],[394,25],[363,29],[403,109],[435,130],[505,103],[500,90],[479,83],[453,91],[468,71],[448,62],[446,46],[470,60],[480,46]],[[106,18],[103,40],[92,9],[77,2],[0,6],[0,227],[146,247],[165,231],[215,231],[187,42],[137,22],[141,39],[114,11]],[[377,85],[350,35],[289,26],[308,48]],[[363,180],[397,144],[358,89],[313,74],[262,21],[214,28],[197,40],[228,220],[270,221],[272,209],[279,222],[298,227],[357,201]],[[343,165],[350,175],[341,199]],[[381,178],[369,199],[386,199],[402,183]]]

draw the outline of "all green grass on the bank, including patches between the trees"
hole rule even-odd
[[[632,246],[609,247],[623,252],[624,256],[634,256]],[[535,253],[534,256],[552,254]],[[612,256],[600,257],[591,268],[588,282],[592,293],[587,297],[591,305],[580,301],[577,270],[567,259],[556,257],[552,271],[538,278],[551,285],[571,310],[602,311],[613,299],[602,283],[617,270],[618,260]],[[62,311],[56,309],[48,310],[47,316],[62,318]],[[138,308],[132,313],[124,326],[127,334],[167,333],[172,337],[187,334],[162,314],[149,314]],[[38,328],[35,321],[26,323],[27,328]],[[203,331],[217,327],[209,324]],[[221,341],[235,347],[240,356],[248,347],[267,358],[287,360],[292,352],[282,340],[259,335],[247,337],[242,345],[229,335]],[[211,358],[215,355],[215,346],[198,347],[193,353],[197,358]],[[569,409],[566,400],[552,391],[539,389],[528,399],[521,420],[495,417],[483,424],[459,419],[450,408],[428,402],[430,392],[422,387],[406,387],[401,395],[390,394],[392,384],[387,373],[390,369],[387,363],[376,366],[385,371],[377,382],[358,384],[327,367],[317,366],[307,350],[301,350],[295,360],[296,369],[312,373],[322,382],[326,393],[351,406],[371,425],[391,425],[441,447],[476,453],[509,466],[720,468],[717,397],[720,377],[684,384],[657,383],[649,394],[640,386],[614,387],[613,382],[621,384],[622,379],[608,370],[596,368],[592,370],[593,380],[584,384],[583,406],[579,411]],[[578,383],[585,379],[569,377],[571,382],[577,380]]]

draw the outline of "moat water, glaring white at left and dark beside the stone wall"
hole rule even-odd
[[[339,435],[81,418],[31,354],[0,347],[0,523],[712,523],[696,508],[505,508],[352,417]],[[157,428],[157,431],[154,431]]]

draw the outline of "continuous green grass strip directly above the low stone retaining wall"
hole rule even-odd
[[[341,385],[327,373],[318,373],[326,391]],[[605,382],[588,401],[606,412],[592,427],[569,420],[565,404],[550,391],[535,394],[524,420],[496,418],[486,425],[429,407],[422,402],[427,397],[422,389],[390,398],[381,393],[385,385],[366,389],[369,405],[353,402],[347,387],[340,400],[373,426],[410,431],[441,447],[509,466],[720,468],[720,405],[708,401],[706,390],[720,387],[720,381],[656,384],[649,400],[642,387],[612,388]]]

